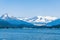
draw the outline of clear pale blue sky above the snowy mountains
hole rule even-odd
[[[60,0],[0,0],[0,16],[5,13],[15,17],[60,17]]]

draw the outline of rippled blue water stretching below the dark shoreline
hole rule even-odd
[[[0,40],[60,40],[60,29],[0,29]]]

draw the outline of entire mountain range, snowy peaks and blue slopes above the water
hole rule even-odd
[[[0,17],[0,27],[52,27],[60,25],[60,18],[52,16],[35,16],[35,17],[14,17],[3,14]]]

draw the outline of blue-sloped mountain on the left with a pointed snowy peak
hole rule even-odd
[[[0,17],[2,20],[7,21],[8,23],[14,25],[14,26],[33,26],[33,24],[29,22],[25,22],[23,20],[20,20],[16,17],[9,16],[8,14],[4,14]]]

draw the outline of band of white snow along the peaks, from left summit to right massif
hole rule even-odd
[[[51,22],[53,20],[56,20],[58,19],[57,17],[52,17],[52,16],[35,16],[35,17],[32,17],[32,18],[25,18],[25,17],[14,17],[14,16],[8,16],[8,14],[3,14],[1,16],[2,19],[9,19],[9,18],[12,18],[12,19],[19,19],[19,20],[24,20],[24,21],[27,21],[27,22],[43,22],[43,23],[48,23],[48,22]]]

